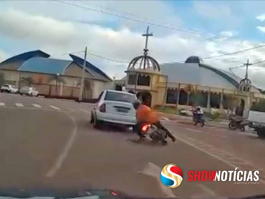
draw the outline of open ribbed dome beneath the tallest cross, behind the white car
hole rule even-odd
[[[144,55],[133,58],[128,66],[128,70],[152,70],[160,71],[158,62],[145,53]]]

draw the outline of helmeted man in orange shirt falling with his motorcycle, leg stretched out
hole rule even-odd
[[[166,129],[160,123],[158,113],[156,113],[155,111],[152,111],[150,109],[150,107],[148,107],[148,106],[146,106],[144,104],[141,104],[141,102],[138,101],[138,100],[133,103],[133,107],[136,110],[136,119],[137,119],[137,124],[136,124],[136,129],[135,130],[137,131],[137,134],[139,135],[140,139],[145,137],[141,133],[141,125],[143,123],[148,123],[148,124],[155,125],[158,129],[162,129],[163,131],[166,132],[168,137],[170,137],[172,139],[173,142],[176,141],[176,138],[168,131],[168,129]]]

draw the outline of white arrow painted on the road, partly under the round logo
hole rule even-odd
[[[155,177],[157,182],[159,183],[159,186],[163,193],[166,195],[166,197],[176,197],[172,190],[168,188],[166,185],[163,184],[163,182],[160,179],[160,173],[162,171],[162,168],[159,166],[153,164],[152,162],[148,162],[147,166],[144,168],[143,171],[138,171],[138,173],[143,173],[148,176]]]

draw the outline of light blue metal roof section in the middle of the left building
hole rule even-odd
[[[65,68],[72,63],[72,61],[62,59],[50,59],[43,57],[33,57],[25,61],[20,67],[19,71],[30,71],[49,74],[63,74]]]

